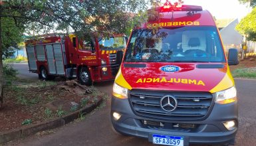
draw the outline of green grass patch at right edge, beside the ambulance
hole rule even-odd
[[[233,70],[234,78],[254,78],[256,79],[256,68],[237,68]]]

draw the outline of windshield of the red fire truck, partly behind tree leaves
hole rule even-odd
[[[125,37],[99,38],[100,50],[117,50],[126,47]]]

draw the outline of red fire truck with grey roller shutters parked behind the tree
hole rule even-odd
[[[113,80],[126,46],[124,35],[44,36],[26,41],[29,72],[49,80],[55,76],[78,78],[80,84]]]

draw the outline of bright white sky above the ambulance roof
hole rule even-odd
[[[162,0],[163,3],[166,0]],[[176,2],[178,0],[170,0]],[[249,13],[247,5],[238,0],[184,0],[185,5],[200,5],[207,9],[216,19],[241,19]]]

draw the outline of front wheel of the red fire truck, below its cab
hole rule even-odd
[[[80,68],[78,72],[78,80],[80,84],[86,85],[86,86],[91,86],[92,85],[92,78],[90,76],[90,72],[88,68]]]

